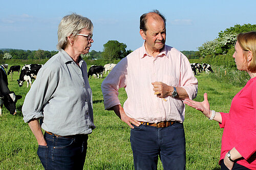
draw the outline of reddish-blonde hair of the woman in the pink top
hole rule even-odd
[[[240,33],[237,36],[237,41],[244,51],[245,61],[247,60],[248,51],[252,53],[250,65],[247,66],[248,71],[256,72],[256,32]]]

